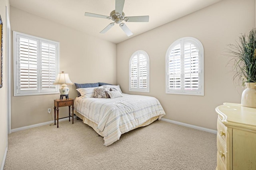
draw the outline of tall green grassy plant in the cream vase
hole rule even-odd
[[[248,35],[242,34],[234,45],[229,45],[228,52],[233,57],[230,62],[235,72],[233,79],[238,78],[242,85],[256,82],[256,30]]]

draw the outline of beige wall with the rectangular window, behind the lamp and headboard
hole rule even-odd
[[[69,73],[73,83],[116,83],[116,44],[94,38],[50,20],[11,7],[12,31],[60,42],[60,71]],[[13,88],[13,73],[12,73]],[[75,99],[75,86],[69,97]],[[51,121],[55,95],[13,96],[11,98],[12,129]],[[68,115],[68,107],[60,108],[60,117]]]

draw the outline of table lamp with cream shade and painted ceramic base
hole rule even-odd
[[[63,100],[63,97],[65,96],[66,99],[68,99],[68,92],[69,88],[66,84],[73,84],[67,73],[64,73],[62,71],[61,73],[58,73],[56,80],[53,83],[54,85],[61,85],[60,87],[60,100]]]

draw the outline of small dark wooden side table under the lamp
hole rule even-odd
[[[72,117],[72,124],[74,124],[74,99],[66,99],[66,100],[55,99],[54,100],[54,125],[56,125],[56,108],[57,108],[57,128],[59,127],[59,119],[67,118],[67,117],[59,118],[59,107],[64,107],[64,106],[68,106],[68,110],[69,110],[68,118],[70,121],[70,117]],[[72,106],[72,116],[70,115],[70,106]]]

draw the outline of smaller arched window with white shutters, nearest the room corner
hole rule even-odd
[[[129,91],[149,92],[149,57],[145,51],[132,54],[129,62]]]

